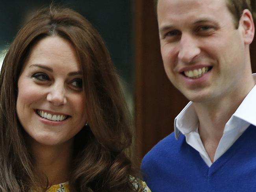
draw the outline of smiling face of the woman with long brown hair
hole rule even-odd
[[[82,72],[68,41],[51,36],[33,46],[18,80],[17,114],[32,144],[72,143],[85,125]]]

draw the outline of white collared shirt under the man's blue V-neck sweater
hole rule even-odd
[[[256,73],[252,74],[256,82]],[[206,152],[202,140],[198,133],[198,117],[192,106],[193,102],[189,102],[186,107],[178,114],[174,120],[175,137],[178,139],[180,133],[185,135],[186,142],[199,152],[204,162],[210,167],[212,162]],[[223,136],[216,149],[214,161],[223,155],[237,138],[253,124],[256,126],[256,85],[250,90],[243,102],[239,105],[234,114],[226,123]],[[214,162],[213,161],[213,162]]]

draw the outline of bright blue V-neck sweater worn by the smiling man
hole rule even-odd
[[[152,192],[256,192],[256,127],[210,168],[184,135],[176,140],[172,133],[145,155],[141,170]]]

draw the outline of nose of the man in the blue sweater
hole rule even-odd
[[[190,63],[201,52],[197,40],[191,35],[183,35],[180,39],[178,58],[184,63]]]

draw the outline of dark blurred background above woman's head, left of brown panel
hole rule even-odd
[[[17,31],[35,11],[50,0],[1,0],[0,50],[6,49]],[[100,32],[114,65],[124,81],[124,89],[134,90],[133,0],[55,0],[87,18]]]

